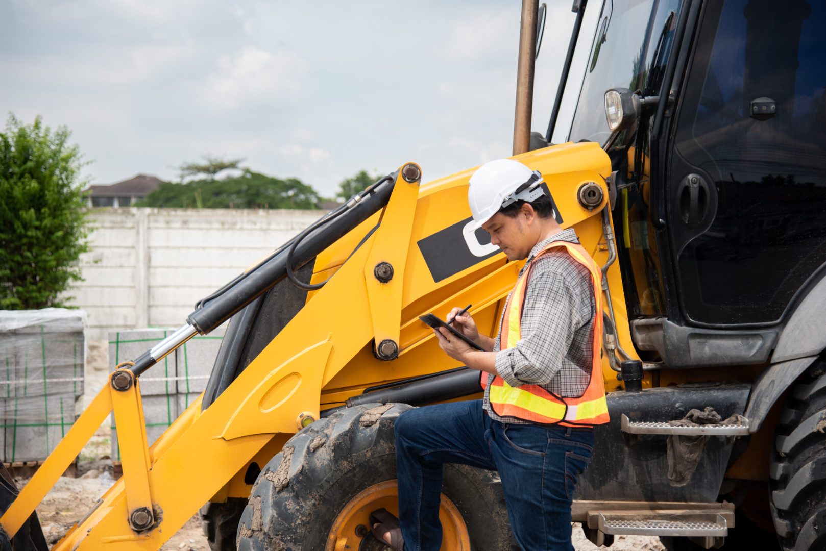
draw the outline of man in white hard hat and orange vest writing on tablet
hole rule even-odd
[[[481,346],[441,328],[439,346],[478,369],[484,399],[406,411],[396,420],[401,521],[371,515],[373,534],[392,549],[437,551],[444,463],[499,472],[522,549],[570,549],[571,502],[608,422],[600,367],[601,271],[563,230],[542,175],[512,159],[491,161],[470,178],[473,227],[509,260],[527,259],[503,311],[499,335],[480,335],[469,314],[449,319]]]

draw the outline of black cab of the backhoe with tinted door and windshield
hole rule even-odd
[[[824,26],[826,4],[806,0],[603,3],[582,82],[567,80],[567,138],[601,143],[618,171],[619,262],[648,359],[764,363],[822,278]],[[642,100],[615,133],[610,88]]]

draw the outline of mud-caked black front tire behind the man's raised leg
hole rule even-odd
[[[325,549],[345,504],[396,478],[393,425],[410,409],[406,404],[350,407],[288,440],[253,486],[241,515],[239,551]],[[519,549],[496,473],[447,464],[443,492],[462,515],[472,549]],[[370,539],[355,545],[368,549]]]

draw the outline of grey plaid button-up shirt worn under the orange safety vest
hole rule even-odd
[[[570,228],[540,241],[531,249],[520,276],[551,241],[579,243]],[[496,335],[496,372],[511,387],[535,384],[560,397],[580,397],[591,378],[596,309],[591,273],[560,249],[536,259],[529,277],[521,340],[513,348],[501,350],[500,336]],[[500,319],[499,327],[501,323]],[[489,374],[483,403],[491,419],[531,425],[530,421],[502,418],[493,412],[489,397],[492,381]]]

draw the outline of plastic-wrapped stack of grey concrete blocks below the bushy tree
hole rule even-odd
[[[86,351],[83,311],[0,311],[2,460],[43,461],[77,419]]]

